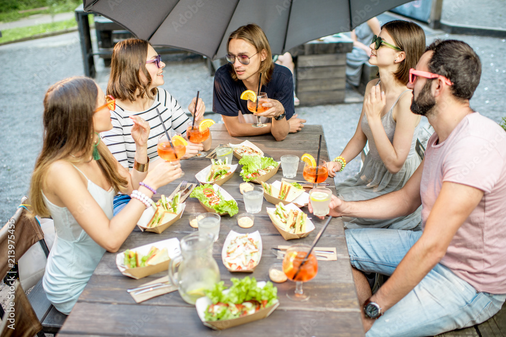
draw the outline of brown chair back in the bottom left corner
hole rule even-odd
[[[8,300],[7,309],[0,325],[2,337],[32,337],[42,330],[35,312],[26,297],[21,283],[14,283],[14,298]]]

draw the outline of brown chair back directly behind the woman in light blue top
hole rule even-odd
[[[27,197],[21,205],[29,203]],[[28,207],[28,208],[26,208]],[[44,232],[37,220],[29,216],[29,206],[18,208],[14,216],[0,229],[0,277],[3,278],[25,252],[44,239]]]

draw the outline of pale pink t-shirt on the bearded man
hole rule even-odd
[[[506,132],[475,112],[437,144],[434,133],[425,152],[420,195],[422,228],[444,181],[485,192],[453,236],[441,264],[477,291],[506,294]]]

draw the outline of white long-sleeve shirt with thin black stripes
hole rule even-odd
[[[161,114],[163,124],[167,130],[173,129],[176,133],[186,136],[186,127],[189,118],[179,106],[175,98],[165,89],[158,88],[153,105],[145,111],[132,112],[121,109],[116,104],[116,110],[111,111],[112,129],[102,132],[100,135],[111,153],[125,168],[132,169],[135,157],[135,142],[131,135],[134,125],[129,116],[137,115],[149,123],[150,132],[148,139],[148,157],[150,160],[157,158],[156,143],[158,137],[164,133],[160,118],[156,109]]]

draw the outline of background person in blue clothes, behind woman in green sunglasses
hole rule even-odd
[[[369,43],[372,36],[379,35],[381,25],[376,17],[358,25],[351,31],[353,50],[346,54],[346,81],[353,86],[359,86],[364,63],[371,57]]]

